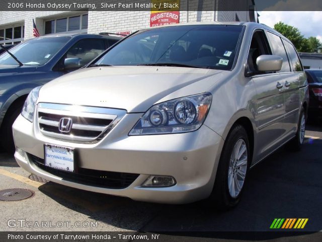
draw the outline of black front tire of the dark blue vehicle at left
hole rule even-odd
[[[13,154],[16,150],[15,144],[14,144],[14,138],[12,134],[12,125],[14,124],[16,118],[21,113],[23,105],[24,105],[24,102],[20,101],[18,103],[15,103],[13,106],[11,106],[1,126],[0,145],[6,152],[10,154]]]

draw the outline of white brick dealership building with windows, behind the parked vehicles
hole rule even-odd
[[[207,11],[191,11],[188,6],[191,0],[179,2],[180,11],[177,11],[178,16],[173,23],[258,22],[254,0],[238,1],[241,5],[240,9],[248,11],[225,11],[229,9],[229,5],[235,5],[235,1],[228,0],[211,0],[211,4],[206,8]],[[129,34],[152,26],[153,19],[155,20],[156,17],[152,18],[151,11],[93,11],[91,8],[82,11],[1,11],[0,44],[19,43],[34,38],[33,20],[40,36],[43,36],[58,33],[98,34],[100,32]],[[165,19],[165,21],[169,20]]]

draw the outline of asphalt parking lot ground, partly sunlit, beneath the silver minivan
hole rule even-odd
[[[282,148],[251,169],[241,202],[224,213],[210,210],[204,202],[142,203],[34,181],[12,155],[1,152],[0,190],[26,188],[35,195],[0,201],[0,230],[272,231],[274,218],[308,218],[301,231],[321,231],[321,148],[322,127],[308,126],[303,149],[294,153]],[[39,229],[36,221],[48,223]]]

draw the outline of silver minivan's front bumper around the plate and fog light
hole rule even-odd
[[[140,116],[141,113],[126,114],[100,142],[78,144],[43,136],[34,123],[19,115],[13,125],[15,145],[29,153],[29,156],[16,152],[15,158],[25,170],[77,189],[156,203],[182,204],[207,198],[214,184],[223,146],[222,138],[205,125],[191,133],[128,136],[129,130]],[[77,165],[81,168],[139,175],[124,189],[66,180],[41,169],[31,161],[30,155],[44,158],[45,143],[75,148]],[[142,187],[149,175],[173,176],[177,184],[164,188]]]

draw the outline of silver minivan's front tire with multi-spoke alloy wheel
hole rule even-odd
[[[235,159],[236,149],[243,151],[245,148],[246,150],[241,153],[239,159]],[[250,146],[247,132],[243,126],[236,125],[231,129],[224,143],[214,188],[209,197],[211,206],[216,210],[228,210],[237,205],[243,188],[245,187],[250,159]],[[239,185],[240,189],[236,185]]]

